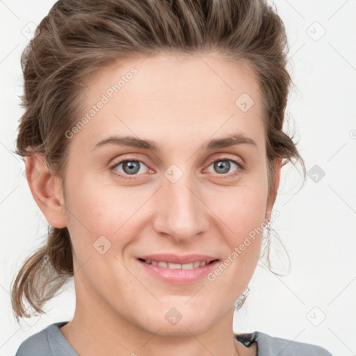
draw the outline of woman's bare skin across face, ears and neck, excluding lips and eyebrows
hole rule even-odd
[[[200,253],[223,261],[268,220],[275,195],[267,205],[257,77],[246,63],[218,54],[143,59],[115,63],[87,79],[83,115],[131,67],[138,70],[70,138],[65,200],[62,181],[46,169],[43,157],[26,159],[29,177],[33,168],[39,172],[29,179],[35,201],[50,225],[69,229],[74,246],[76,309],[60,331],[79,355],[87,356],[256,355],[255,343],[245,348],[234,341],[232,320],[234,302],[257,266],[261,235],[213,282],[163,282],[147,273],[136,256]],[[235,104],[244,92],[254,100],[246,112]],[[245,134],[257,147],[204,149],[208,140],[231,133]],[[93,149],[110,135],[154,140],[161,151],[120,145]],[[225,156],[244,162],[244,170],[229,161],[229,171],[220,173],[211,163]],[[136,175],[128,175],[122,164],[109,168],[128,157],[143,162]],[[164,175],[172,164],[183,172],[175,183]],[[100,254],[93,243],[103,235],[111,248]],[[172,307],[182,316],[175,325],[165,318]]]

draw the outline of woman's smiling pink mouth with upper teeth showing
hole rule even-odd
[[[204,255],[177,256],[156,254],[138,257],[137,261],[150,276],[170,284],[193,284],[207,277],[220,259]]]

